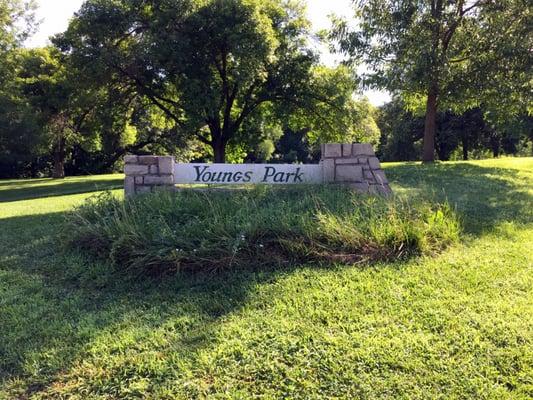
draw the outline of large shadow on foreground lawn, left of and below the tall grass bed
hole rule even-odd
[[[141,352],[156,351],[150,343],[164,332],[159,350],[193,362],[216,340],[220,319],[247,303],[251,287],[284,273],[129,279],[105,263],[62,252],[56,239],[62,214],[0,219],[0,397],[2,386],[21,398],[46,393],[90,359],[92,346],[120,346],[120,332],[153,346]]]

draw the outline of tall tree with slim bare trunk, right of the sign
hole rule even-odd
[[[464,111],[530,100],[528,0],[360,0],[358,30],[336,21],[339,49],[368,64],[366,84],[425,99],[423,160],[435,157],[439,108]],[[409,104],[408,104],[409,105]]]

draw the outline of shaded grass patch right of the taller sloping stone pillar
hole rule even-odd
[[[533,174],[467,163],[399,165],[386,173],[401,195],[448,201],[467,233],[482,234],[506,221],[533,223]]]

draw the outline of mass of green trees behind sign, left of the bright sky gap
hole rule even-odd
[[[319,142],[377,143],[351,70],[321,65],[310,36],[296,2],[87,1],[54,46],[12,35],[0,175],[113,171],[126,153],[306,161]]]

